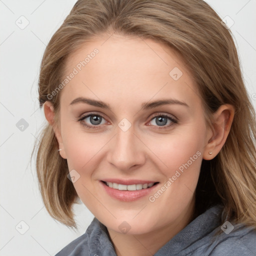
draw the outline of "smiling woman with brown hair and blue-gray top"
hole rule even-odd
[[[43,55],[37,175],[60,255],[254,255],[255,113],[202,0],[78,0]]]

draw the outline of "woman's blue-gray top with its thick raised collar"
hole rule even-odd
[[[221,210],[221,205],[207,209],[154,256],[256,256],[256,229],[232,222],[221,223]],[[213,236],[219,229],[223,231]],[[116,253],[106,227],[94,217],[86,232],[55,256],[116,256]]]

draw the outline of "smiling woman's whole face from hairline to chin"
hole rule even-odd
[[[109,230],[184,226],[208,141],[196,84],[166,45],[106,38],[84,43],[67,60],[60,154],[78,196]]]

